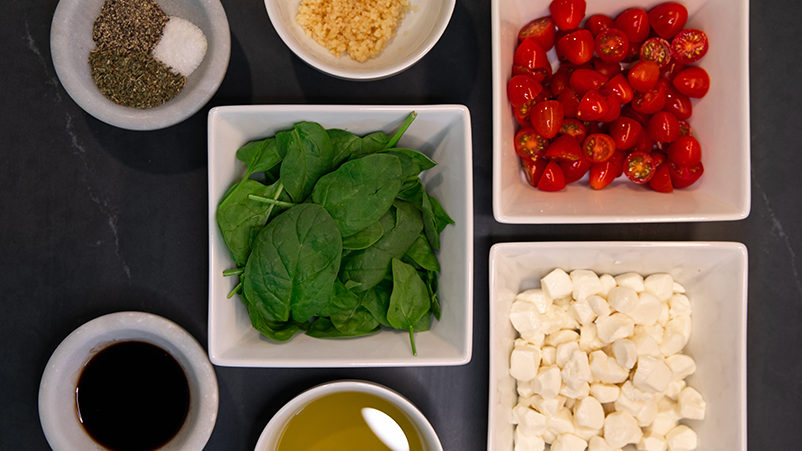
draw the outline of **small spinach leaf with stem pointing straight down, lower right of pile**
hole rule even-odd
[[[417,355],[413,332],[418,321],[429,313],[429,293],[415,268],[397,258],[393,259],[392,267],[393,292],[387,308],[387,321],[396,329],[409,331],[412,354]]]

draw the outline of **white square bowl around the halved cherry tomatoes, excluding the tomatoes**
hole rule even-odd
[[[663,0],[588,0],[586,15],[615,17],[626,8],[644,9]],[[549,15],[549,0],[493,0],[493,215],[506,223],[606,223],[723,221],[743,219],[750,209],[749,175],[749,1],[684,0],[687,27],[704,30],[710,51],[699,62],[710,91],[694,100],[690,119],[702,145],[705,173],[689,188],[671,194],[636,186],[626,177],[595,191],[587,176],[558,193],[524,180],[513,148],[516,121],[506,86],[518,30]],[[552,52],[553,54],[553,52]],[[552,58],[553,61],[553,58]],[[555,65],[556,67],[556,65]]]

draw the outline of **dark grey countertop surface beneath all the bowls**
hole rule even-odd
[[[473,120],[473,359],[435,368],[216,368],[220,410],[208,449],[252,449],[300,391],[340,378],[388,385],[428,416],[447,450],[486,443],[487,255],[518,240],[726,240],[749,248],[748,437],[752,449],[802,440],[802,6],[751,6],[752,212],[737,222],[503,225],[491,211],[490,5],[460,1],[434,49],[406,72],[356,83],[311,69],[280,41],[260,0],[224,0],[231,62],[187,121],[131,132],[66,94],[50,59],[56,0],[5,0],[0,21],[0,449],[43,449],[39,379],[70,331],[144,310],[207,339],[206,113],[261,103],[461,103]],[[737,93],[733,93],[737,95]],[[726,126],[726,124],[725,124]],[[796,418],[796,420],[794,419]]]

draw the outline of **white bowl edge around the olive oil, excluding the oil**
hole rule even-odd
[[[378,396],[379,398],[388,401],[401,409],[403,413],[412,421],[412,424],[420,432],[421,439],[423,439],[424,449],[427,451],[442,451],[443,446],[440,444],[440,439],[437,437],[432,425],[426,417],[415,407],[414,404],[409,402],[397,392],[389,388],[375,384],[373,382],[343,380],[328,382],[317,387],[310,388],[309,390],[296,396],[290,402],[284,405],[265,426],[262,435],[259,436],[259,441],[256,442],[254,451],[272,451],[276,449],[278,441],[281,438],[281,433],[287,427],[287,423],[292,417],[306,407],[310,402],[332,393],[341,392],[361,392]]]

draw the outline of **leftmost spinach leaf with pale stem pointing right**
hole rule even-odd
[[[282,210],[278,206],[254,202],[248,196],[255,194],[278,199],[281,193],[278,183],[265,186],[245,179],[235,184],[217,206],[217,226],[237,266],[245,265],[251,253],[251,243],[270,215]]]

